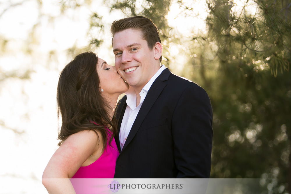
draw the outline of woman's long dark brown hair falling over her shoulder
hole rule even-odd
[[[116,134],[115,119],[111,121],[107,112],[110,107],[101,95],[97,61],[96,54],[81,53],[60,74],[57,88],[58,120],[60,114],[62,118],[61,129],[58,130],[59,146],[70,135],[88,129],[96,134],[100,132],[104,149]]]

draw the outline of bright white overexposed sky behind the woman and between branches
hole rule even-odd
[[[192,2],[185,1],[190,6]],[[7,9],[9,5],[17,6]],[[110,24],[125,17],[121,11],[109,13],[103,0],[69,9],[63,15],[59,1],[43,0],[40,10],[38,6],[36,0],[0,0],[0,43],[3,37],[9,40],[5,50],[0,48],[0,79],[11,72],[15,76],[30,72],[30,79],[10,76],[0,81],[0,182],[5,183],[1,184],[0,194],[47,193],[41,177],[58,148],[56,86],[59,73],[72,60],[67,49],[88,45],[89,17],[97,12],[105,24],[104,43],[97,54],[114,65]],[[168,23],[186,36],[205,31],[204,8],[201,1],[194,6],[195,13],[199,13],[196,19],[184,17],[179,15],[177,1],[173,1]],[[174,45],[171,52],[178,55]]]

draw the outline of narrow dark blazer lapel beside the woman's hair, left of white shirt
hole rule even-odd
[[[116,108],[116,119],[118,120],[117,125],[117,133],[114,137],[118,151],[120,152],[120,141],[119,141],[119,132],[120,132],[120,126],[122,122],[122,118],[126,109],[126,95],[118,102],[117,108]]]

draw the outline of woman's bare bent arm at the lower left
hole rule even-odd
[[[98,139],[93,130],[84,130],[69,136],[53,154],[43,172],[42,184],[47,191],[75,193],[70,178],[89,156],[102,152],[102,142],[102,136],[99,135]]]

